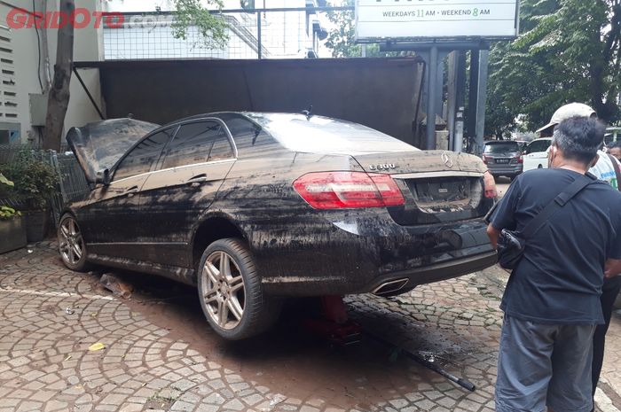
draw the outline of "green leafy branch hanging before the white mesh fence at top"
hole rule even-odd
[[[222,13],[210,12],[202,4],[216,6],[221,11],[224,7],[222,0],[173,0],[175,5],[175,21],[172,24],[172,34],[176,39],[187,39],[190,27],[197,27],[202,43],[207,47],[223,49],[229,40],[229,25]]]

